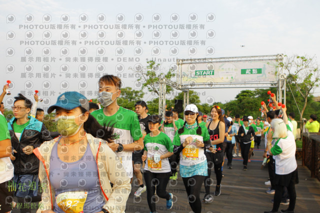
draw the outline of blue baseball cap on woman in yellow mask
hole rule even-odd
[[[89,102],[86,97],[77,91],[67,91],[58,96],[56,103],[48,108],[48,113],[51,113],[57,107],[70,110],[78,106],[89,110]]]

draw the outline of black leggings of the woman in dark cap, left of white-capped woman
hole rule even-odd
[[[156,194],[165,198],[166,200],[170,199],[170,194],[165,191],[166,185],[168,184],[170,178],[170,172],[166,173],[154,173],[148,170],[144,170],[143,173],[145,186],[146,186],[146,200],[148,201],[148,205],[151,212],[155,211],[155,186],[156,186]]]

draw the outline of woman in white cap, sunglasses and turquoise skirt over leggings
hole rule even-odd
[[[184,109],[185,122],[173,138],[173,152],[180,154],[180,175],[189,205],[195,213],[201,212],[200,188],[207,175],[204,150],[210,147],[208,131],[205,126],[199,126],[197,114],[196,105],[187,105]]]

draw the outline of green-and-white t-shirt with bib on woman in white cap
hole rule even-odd
[[[204,155],[204,149],[195,145],[195,139],[198,139],[203,142],[209,140],[210,136],[205,126],[200,126],[202,131],[201,135],[196,134],[197,128],[198,127],[195,127],[193,129],[187,129],[184,127],[183,132],[181,134],[179,134],[178,131],[175,132],[173,138],[173,145],[181,145],[184,142],[185,138],[188,136],[191,136],[193,138],[193,142],[186,145],[180,152],[181,165],[189,166],[191,164],[199,164],[206,160],[206,157]]]

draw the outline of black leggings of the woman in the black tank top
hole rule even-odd
[[[214,154],[212,152],[207,152],[207,151],[204,151],[204,154],[206,156],[206,161],[208,163],[208,175],[204,177],[203,182],[204,182],[205,193],[210,194],[210,185],[212,184],[211,178],[210,178],[211,169],[214,166],[216,184],[220,185],[222,180],[221,167],[222,167],[223,160],[220,163],[214,164],[214,161],[213,161]]]

